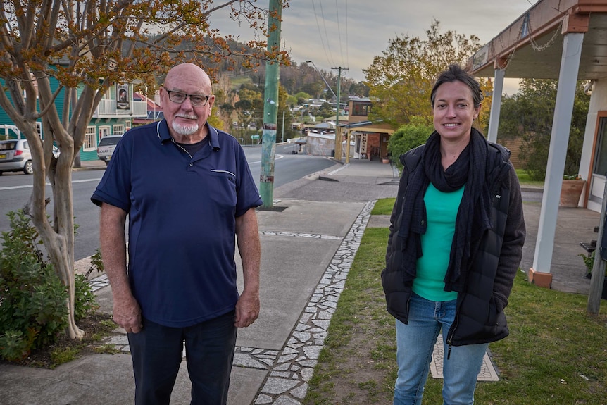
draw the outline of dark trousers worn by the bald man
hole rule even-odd
[[[192,381],[191,405],[227,402],[237,328],[234,312],[187,328],[169,328],[144,319],[129,333],[136,405],[168,405],[182,359]]]

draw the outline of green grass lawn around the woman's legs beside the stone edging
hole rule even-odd
[[[372,215],[389,213],[387,200]],[[304,404],[392,404],[394,319],[380,281],[387,236],[387,228],[365,230]],[[499,382],[480,382],[475,403],[607,404],[607,301],[596,317],[586,304],[520,272],[506,309],[511,335],[490,345]],[[441,404],[441,389],[442,380],[429,378],[424,404]]]

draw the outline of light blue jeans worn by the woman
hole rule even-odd
[[[456,300],[428,301],[417,294],[409,301],[408,324],[396,320],[396,361],[399,375],[394,405],[421,405],[430,360],[439,332],[446,340],[456,313]],[[477,375],[488,344],[452,346],[444,342],[443,404],[472,405]]]

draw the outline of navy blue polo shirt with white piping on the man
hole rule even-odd
[[[165,120],[127,131],[91,197],[128,213],[132,292],[144,318],[170,327],[234,309],[236,217],[262,204],[240,144],[207,127],[194,156]]]

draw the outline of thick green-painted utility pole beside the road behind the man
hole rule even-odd
[[[282,4],[280,0],[270,0],[268,14],[268,51],[276,51],[280,46],[280,19]],[[276,121],[278,118],[278,61],[265,62],[265,88],[263,97],[263,135],[261,136],[261,174],[259,176],[259,194],[262,208],[274,205],[274,154],[276,149]]]

